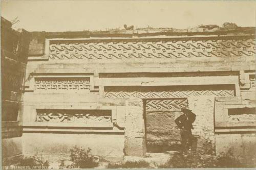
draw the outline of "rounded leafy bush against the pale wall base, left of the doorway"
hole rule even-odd
[[[80,168],[92,168],[99,165],[98,162],[93,160],[91,155],[91,149],[85,150],[83,148],[74,147],[71,151],[71,161],[74,162],[74,166],[79,166]]]

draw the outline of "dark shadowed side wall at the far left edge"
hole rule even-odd
[[[29,33],[14,31],[1,17],[2,153],[3,158],[22,154],[22,112]]]

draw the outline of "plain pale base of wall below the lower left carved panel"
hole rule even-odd
[[[68,139],[68,140],[67,140]],[[91,148],[96,156],[124,156],[124,135],[121,134],[68,134],[24,133],[23,152],[31,155],[69,155],[73,147]]]

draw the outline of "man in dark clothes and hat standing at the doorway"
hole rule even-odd
[[[192,147],[194,139],[191,129],[194,129],[192,124],[196,120],[196,114],[192,113],[188,108],[182,108],[181,111],[183,114],[175,119],[175,123],[178,128],[180,128],[181,145],[183,150],[189,150]]]

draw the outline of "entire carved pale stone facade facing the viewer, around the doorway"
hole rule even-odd
[[[75,145],[105,158],[172,151],[180,144],[174,119],[189,106],[197,147],[254,152],[254,32],[30,33],[12,120],[22,127],[18,147],[57,158]]]

